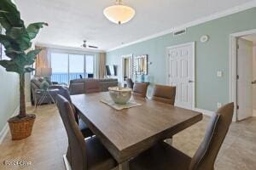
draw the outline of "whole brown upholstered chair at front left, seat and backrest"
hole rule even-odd
[[[96,137],[84,140],[75,122],[70,103],[61,95],[56,96],[56,105],[67,131],[68,150],[67,160],[73,170],[102,170],[112,169],[117,165],[99,139]]]

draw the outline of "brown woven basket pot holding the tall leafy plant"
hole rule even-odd
[[[33,114],[27,114],[22,118],[19,118],[18,116],[11,117],[8,122],[12,139],[20,140],[29,137],[32,133],[35,119],[36,116]]]

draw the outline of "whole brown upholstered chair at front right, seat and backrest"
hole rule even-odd
[[[130,170],[213,170],[233,112],[234,104],[230,103],[212,115],[205,138],[193,158],[165,142],[160,142],[131,160]]]

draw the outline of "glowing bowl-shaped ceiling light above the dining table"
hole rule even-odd
[[[125,6],[122,0],[116,0],[113,6],[104,9],[103,14],[108,20],[121,25],[130,21],[134,17],[135,10],[131,7]]]

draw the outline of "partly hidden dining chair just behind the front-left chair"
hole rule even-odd
[[[82,119],[79,118],[79,111],[77,111],[75,109],[74,105],[72,104],[72,100],[70,98],[70,94],[69,94],[69,91],[67,90],[67,88],[59,88],[59,94],[61,94],[70,103],[70,105],[73,109],[75,121],[78,123],[79,129],[80,129],[81,133],[83,133],[84,138],[93,136],[94,133],[92,133],[90,131],[90,128],[86,125],[86,123]]]

